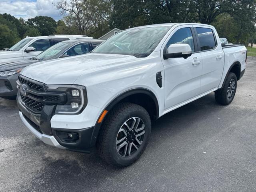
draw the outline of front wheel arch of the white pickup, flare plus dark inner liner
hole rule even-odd
[[[142,98],[144,98],[144,99],[142,100]],[[144,102],[142,102],[142,101],[144,101]],[[147,102],[149,101],[150,104],[148,104],[145,107],[146,101]],[[125,92],[122,92],[121,94],[116,96],[114,99],[112,99],[107,104],[106,108],[104,108],[104,110],[102,110],[101,115],[104,113],[105,110],[107,110],[109,112],[116,104],[118,104],[120,102],[132,102],[135,104],[139,104],[140,106],[144,107],[148,111],[151,119],[155,120],[159,117],[158,100],[157,100],[155,94],[147,88],[133,88],[133,89],[127,90]],[[108,113],[106,113],[106,116],[107,115],[108,115]],[[104,119],[106,117],[106,116],[104,117],[102,122],[98,123],[100,116],[98,117],[98,120],[94,126],[94,130],[93,130],[92,138],[91,138],[91,142],[90,142],[91,147],[96,144],[98,134],[100,132],[100,128],[101,128],[102,124],[104,123]]]

